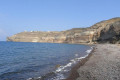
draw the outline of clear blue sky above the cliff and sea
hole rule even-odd
[[[0,41],[23,31],[90,27],[120,17],[120,0],[0,0]]]

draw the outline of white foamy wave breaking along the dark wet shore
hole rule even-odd
[[[91,53],[91,51],[93,50],[93,46],[86,50],[87,55],[83,56],[83,57],[79,57],[79,58],[75,58],[75,59],[71,59],[69,63],[67,63],[66,65],[61,65],[59,66],[55,71],[48,73],[44,76],[38,77],[38,78],[29,78],[27,80],[63,80],[66,79],[67,76],[66,74],[71,70],[71,67],[73,65],[75,65],[76,63],[78,63],[81,59],[86,58],[89,53]],[[78,54],[75,54],[75,56],[77,57]]]

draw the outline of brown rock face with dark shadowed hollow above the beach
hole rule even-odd
[[[119,43],[120,40],[120,18],[113,18],[93,25],[93,42]]]

